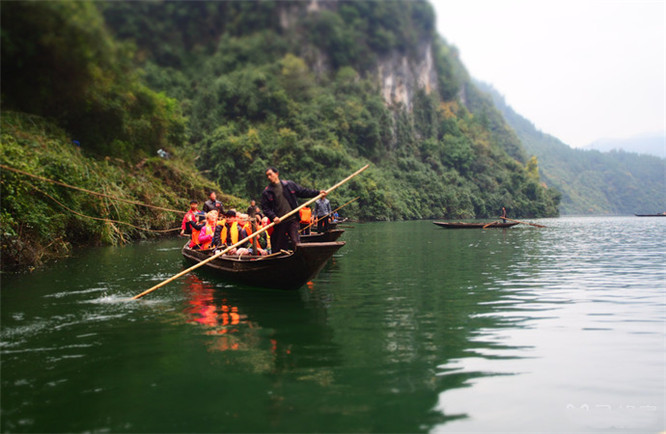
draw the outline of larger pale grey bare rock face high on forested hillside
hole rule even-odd
[[[397,52],[380,60],[377,78],[388,106],[402,105],[412,111],[414,95],[437,91],[437,71],[432,58],[432,41],[421,41],[415,58]]]

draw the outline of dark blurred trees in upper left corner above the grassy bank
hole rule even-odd
[[[154,155],[185,139],[176,101],[146,87],[132,60],[93,3],[2,6],[3,105],[54,118],[98,156]]]

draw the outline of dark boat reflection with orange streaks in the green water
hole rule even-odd
[[[190,274],[184,279],[186,322],[200,326],[208,351],[243,353],[226,358],[255,372],[285,372],[339,363],[327,324],[329,297],[308,282],[300,292],[226,290]],[[318,355],[312,349],[319,348]]]

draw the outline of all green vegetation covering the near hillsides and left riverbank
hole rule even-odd
[[[436,91],[415,90],[410,110],[387,105],[378,63],[419,63],[424,44]],[[435,34],[424,1],[316,11],[299,1],[7,2],[2,65],[2,163],[90,190],[185,209],[211,186],[198,173],[258,198],[268,165],[324,188],[370,162],[336,192],[340,204],[360,196],[347,216],[494,217],[502,206],[557,215],[559,194]],[[160,148],[173,158],[155,157]],[[178,220],[38,188],[81,214],[142,228]],[[63,212],[12,172],[2,172],[2,193],[5,262],[26,262],[18,247],[7,254],[15,243],[45,254],[146,236]]]

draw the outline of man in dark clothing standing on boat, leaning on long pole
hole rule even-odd
[[[300,242],[298,215],[292,215],[285,221],[280,220],[280,216],[298,208],[297,197],[315,197],[319,194],[326,196],[326,190],[311,190],[293,181],[281,181],[274,167],[266,170],[266,177],[269,184],[261,194],[261,210],[275,223],[271,246],[274,252],[279,252],[281,249],[289,248],[289,240],[294,246]]]

